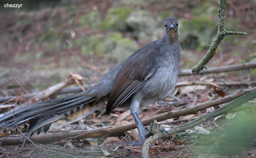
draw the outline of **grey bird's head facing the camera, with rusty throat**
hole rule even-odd
[[[177,39],[178,38],[178,21],[174,17],[169,17],[165,19],[165,32],[166,35],[170,39]]]

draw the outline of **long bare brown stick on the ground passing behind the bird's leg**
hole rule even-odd
[[[196,106],[192,106],[189,108],[184,108],[176,111],[169,111],[165,112],[163,114],[156,115],[154,117],[149,117],[148,119],[142,120],[142,123],[144,126],[150,125],[150,123],[153,120],[157,120],[157,122],[171,119],[174,117],[179,117],[183,115],[188,115],[197,111],[201,111],[203,109],[210,108],[212,106],[220,105],[226,102],[230,102],[238,97],[241,97],[245,94],[248,94],[252,91],[255,91],[256,88],[251,88],[247,90],[239,90],[238,92],[231,94],[229,96],[216,99],[216,100],[209,100],[205,103],[198,104]],[[107,135],[108,137],[111,136],[117,136],[122,135],[125,131],[130,131],[132,129],[136,128],[135,123],[130,123],[127,125],[122,126],[114,126],[114,127],[108,127],[108,128],[101,128],[101,129],[95,129],[92,131],[78,131],[78,132],[63,132],[63,133],[55,133],[55,134],[44,134],[44,135],[38,135],[38,136],[32,136],[30,140],[34,142],[39,143],[50,143],[54,141],[61,141],[64,139],[74,138],[76,140],[83,139],[83,138],[93,138],[93,137],[104,137]],[[20,139],[22,137],[15,136],[15,137],[3,137],[0,139],[2,141],[2,145],[11,145],[11,144],[21,144]]]

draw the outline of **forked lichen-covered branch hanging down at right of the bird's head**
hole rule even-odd
[[[213,58],[216,54],[216,49],[223,40],[224,36],[229,35],[247,35],[245,32],[227,31],[225,29],[225,18],[227,13],[227,1],[219,0],[219,10],[218,10],[218,32],[213,40],[209,50],[206,55],[201,59],[201,61],[192,68],[192,73],[199,73],[203,68],[207,69],[206,64]]]

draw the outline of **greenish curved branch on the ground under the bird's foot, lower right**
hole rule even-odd
[[[245,103],[245,102],[248,102],[249,100],[252,100],[256,97],[256,90],[255,91],[252,91],[251,93],[248,93],[248,94],[245,94],[244,96],[241,96],[235,100],[233,100],[232,102],[230,103],[227,103],[226,105],[222,106],[221,108],[218,108],[216,109],[215,111],[213,112],[210,112],[206,115],[203,115],[203,116],[200,116],[198,117],[197,119],[195,120],[192,120],[188,123],[184,123],[182,125],[178,125],[178,126],[175,126],[174,128],[170,129],[168,132],[169,134],[165,134],[165,132],[160,132],[158,131],[155,135],[149,137],[145,143],[143,144],[143,148],[142,148],[142,157],[143,158],[149,158],[149,155],[148,155],[148,149],[149,149],[149,146],[157,139],[160,139],[160,138],[166,138],[166,137],[170,137],[171,135],[174,135],[175,133],[177,132],[181,132],[181,131],[185,131],[187,129],[190,129],[190,128],[194,128],[195,126],[198,126],[200,125],[201,123],[203,122],[206,122],[207,120],[210,120],[214,117],[217,117],[221,114],[224,114],[226,112],[228,112],[230,109],[233,109],[233,108],[236,108],[238,107],[239,105]],[[157,128],[157,122],[154,121],[154,126],[152,128],[153,131],[157,131],[155,128]]]

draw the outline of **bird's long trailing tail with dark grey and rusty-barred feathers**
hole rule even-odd
[[[82,93],[74,96],[35,103],[0,117],[0,137],[17,133],[16,125],[27,128],[26,137],[34,132],[40,134],[43,129],[47,132],[51,128],[75,122],[100,108],[107,102],[108,96],[91,97]],[[15,117],[15,118],[14,118]],[[27,122],[28,127],[27,127]],[[10,129],[15,129],[15,132]],[[23,132],[26,130],[23,130]],[[23,138],[21,141],[26,140]]]

